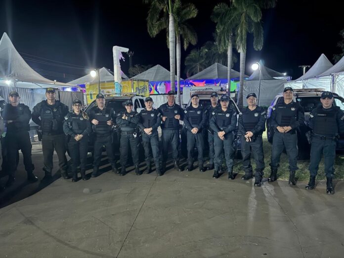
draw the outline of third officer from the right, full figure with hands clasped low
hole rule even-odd
[[[261,186],[263,177],[264,153],[262,133],[265,131],[266,111],[257,106],[256,93],[246,96],[248,106],[239,115],[238,129],[241,133],[241,154],[243,156],[243,169],[245,175],[241,178],[252,178],[251,153],[256,162],[255,186]]]

